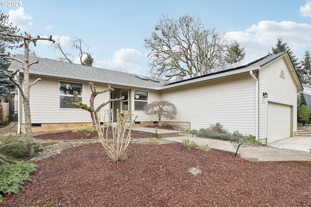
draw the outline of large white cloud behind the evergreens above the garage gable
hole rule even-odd
[[[294,52],[306,50],[311,43],[311,25],[293,21],[260,21],[245,31],[233,31],[225,34],[229,39],[236,39],[245,46],[246,59],[267,55],[277,38],[282,37],[283,43]],[[298,58],[301,58],[297,54]]]

